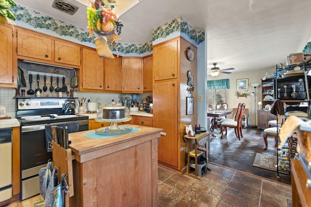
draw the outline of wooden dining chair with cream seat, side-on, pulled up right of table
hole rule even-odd
[[[221,133],[222,133],[222,138],[224,136],[224,130],[225,130],[225,135],[227,136],[227,127],[229,128],[234,128],[235,135],[240,139],[240,136],[243,138],[242,134],[242,118],[243,118],[243,113],[245,110],[245,103],[239,103],[238,110],[236,113],[235,120],[227,120],[222,122],[220,125]]]

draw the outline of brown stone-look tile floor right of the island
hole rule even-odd
[[[158,167],[159,207],[287,207],[292,187],[207,163],[203,180]]]

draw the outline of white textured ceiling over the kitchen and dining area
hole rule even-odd
[[[71,16],[52,8],[53,0],[16,0],[18,4],[86,28],[86,6]],[[118,4],[118,0],[117,4]],[[311,37],[309,0],[141,0],[120,16],[125,43],[152,40],[152,29],[182,16],[207,31],[207,68],[218,63],[233,72],[274,68],[285,56],[301,52]]]

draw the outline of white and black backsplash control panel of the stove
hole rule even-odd
[[[63,108],[66,99],[18,99],[18,110]]]

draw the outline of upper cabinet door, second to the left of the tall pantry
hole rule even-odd
[[[123,92],[142,92],[142,59],[123,59]]]

